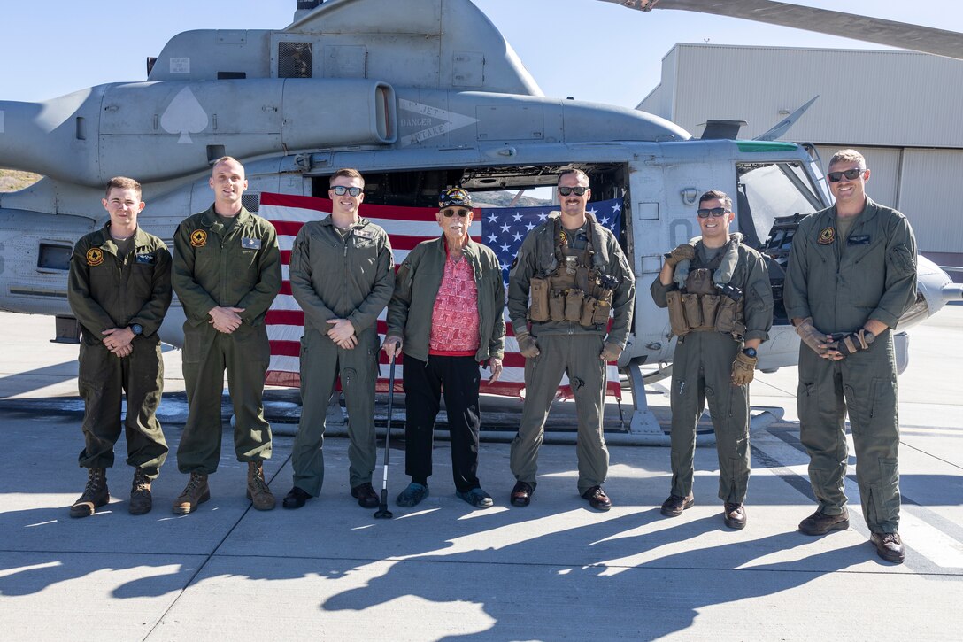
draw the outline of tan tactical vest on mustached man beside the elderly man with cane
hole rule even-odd
[[[588,234],[585,250],[568,247],[568,234],[559,219],[555,220],[553,238],[558,267],[551,274],[534,276],[529,284],[532,305],[529,320],[571,321],[586,328],[609,322],[612,312],[612,277],[592,267],[592,245],[595,225],[587,218]]]

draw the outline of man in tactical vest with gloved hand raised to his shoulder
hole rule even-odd
[[[729,233],[732,199],[710,190],[699,199],[702,237],[665,255],[652,299],[669,308],[679,337],[672,359],[672,490],[662,505],[678,517],[692,495],[695,428],[709,401],[716,431],[723,522],[746,524],[749,486],[749,382],[756,350],[772,327],[772,289],[761,254]]]

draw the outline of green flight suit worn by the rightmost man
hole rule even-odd
[[[846,239],[836,207],[806,217],[795,232],[786,276],[790,318],[813,317],[825,334],[858,331],[870,319],[896,328],[916,301],[916,238],[906,217],[867,198]],[[893,335],[842,361],[799,346],[799,439],[809,480],[826,515],[846,507],[846,414],[856,449],[863,517],[874,533],[899,527],[899,421]]]

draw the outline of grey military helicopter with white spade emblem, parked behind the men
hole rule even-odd
[[[954,32],[787,3],[602,1],[804,25],[963,58]],[[622,201],[619,240],[639,284],[618,362],[634,391],[630,432],[664,437],[644,387],[667,376],[675,341],[645,285],[667,249],[697,234],[692,211],[702,191],[733,195],[746,242],[776,256],[776,318],[760,369],[797,361],[798,338],[780,313],[778,257],[792,242],[794,218],[831,202],[815,147],[775,140],[803,109],[756,140],[738,139],[724,122],[696,139],[637,110],[545,96],[470,0],[301,0],[283,29],[174,36],[148,59],[146,81],[39,103],[0,101],[0,166],[44,176],[0,195],[0,308],[55,315],[58,336],[76,336],[69,257],[76,239],[103,225],[91,203],[118,174],[141,181],[149,203],[142,225],[169,241],[185,216],[210,204],[210,166],[223,155],[244,163],[245,205],[254,212],[262,193],[325,195],[327,176],[340,167],[365,175],[366,204],[412,207],[436,205],[449,185],[520,191],[580,169],[594,199]],[[921,256],[918,301],[898,331],[959,298],[959,286]],[[175,301],[161,338],[181,345],[183,321]],[[905,367],[905,340],[897,347]]]

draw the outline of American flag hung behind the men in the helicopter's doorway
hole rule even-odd
[[[291,293],[288,264],[291,248],[294,246],[298,231],[308,221],[318,221],[331,211],[331,201],[314,197],[291,196],[286,194],[261,193],[258,214],[273,223],[277,229],[277,241],[281,248],[283,263],[283,282],[281,291],[267,315],[268,336],[271,339],[271,365],[268,368],[269,386],[298,387],[299,379],[299,340],[304,334],[304,313]],[[437,238],[441,233],[435,220],[438,210],[432,207],[397,207],[393,205],[362,204],[360,215],[377,226],[383,227],[391,238],[391,248],[395,265],[401,265],[404,257],[419,243]],[[469,229],[472,240],[484,243],[497,254],[502,264],[502,276],[508,286],[508,269],[518,253],[522,239],[531,230],[545,221],[551,207],[481,207],[475,209],[475,217]],[[605,227],[617,235],[622,222],[622,201],[596,201],[588,203],[588,210]],[[387,331],[385,315],[382,310],[377,319],[377,332],[382,340]],[[506,336],[505,359],[502,376],[498,382],[488,386],[483,383],[488,373],[482,371],[481,392],[522,396],[525,388],[525,358],[518,352],[508,310],[505,311]],[[378,389],[387,390],[388,360],[379,353],[380,373]],[[396,367],[396,389],[401,390],[403,359]],[[608,366],[608,393],[621,398],[618,381],[618,368]],[[570,397],[568,380],[562,378],[560,396]]]

